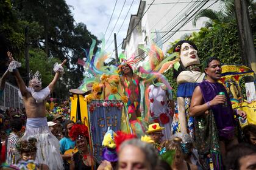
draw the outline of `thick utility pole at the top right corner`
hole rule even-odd
[[[248,12],[247,0],[234,0],[236,22],[238,25],[238,34],[240,38],[240,47],[243,64],[249,66],[256,73],[256,55],[254,49],[254,40],[252,39],[251,22]]]

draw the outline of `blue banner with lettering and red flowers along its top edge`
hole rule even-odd
[[[122,109],[121,101],[93,100],[88,104],[93,156],[98,163],[101,162],[101,144],[107,128],[115,132],[120,130]]]

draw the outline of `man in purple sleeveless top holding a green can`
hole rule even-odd
[[[204,71],[207,79],[194,89],[190,115],[197,118],[204,117],[212,112],[219,149],[222,157],[225,157],[226,151],[238,144],[238,138],[235,136],[233,109],[226,88],[218,83],[221,78],[221,63],[218,58],[207,58]],[[224,92],[225,95],[223,93],[223,95],[219,95],[219,92]],[[236,114],[244,119],[246,118],[246,113],[243,111],[237,110]],[[208,134],[210,133],[209,131]]]

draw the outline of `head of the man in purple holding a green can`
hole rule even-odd
[[[212,60],[204,71],[207,75],[207,80],[216,82],[221,78],[221,63],[218,60]]]

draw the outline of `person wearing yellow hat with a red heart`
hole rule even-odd
[[[165,127],[161,127],[159,123],[152,123],[149,124],[148,131],[146,133],[151,137],[152,140],[154,140],[154,146],[157,148],[158,151],[161,151],[161,137],[163,137],[162,130],[165,129]]]

